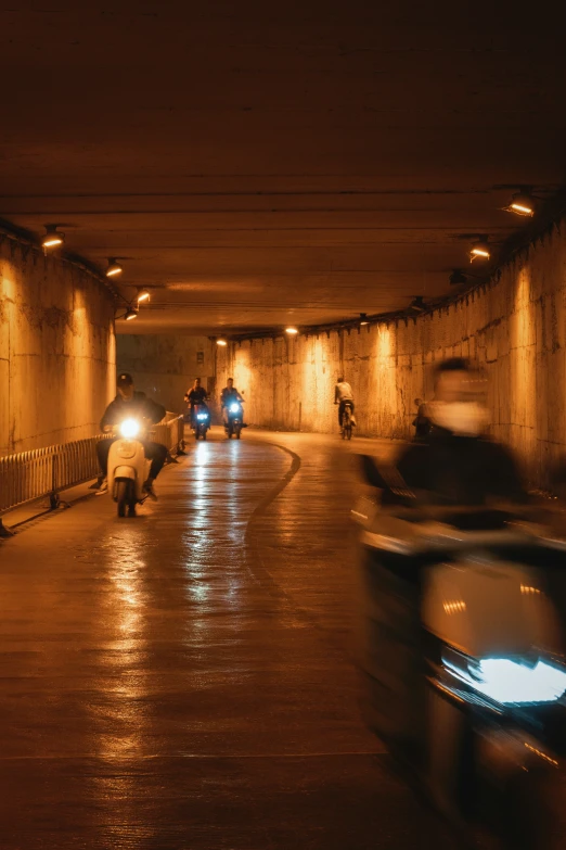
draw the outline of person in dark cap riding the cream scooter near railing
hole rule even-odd
[[[123,372],[116,381],[116,398],[110,403],[101,419],[101,431],[112,431],[113,426],[117,426],[125,419],[146,419],[152,424],[160,422],[165,417],[165,407],[152,398],[147,398],[145,393],[136,392],[133,378],[128,372]],[[116,440],[119,437],[116,437]],[[106,493],[108,490],[108,453],[112,443],[115,440],[101,440],[97,444],[97,454],[102,472],[102,482],[97,491],[97,495]],[[151,498],[157,499],[153,489],[153,482],[159,474],[167,457],[167,448],[160,443],[146,441],[143,443],[145,457],[152,461],[150,474],[143,485],[143,491]]]

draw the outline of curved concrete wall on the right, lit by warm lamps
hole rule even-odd
[[[343,372],[356,393],[358,433],[407,437],[414,398],[433,395],[433,364],[475,357],[491,378],[493,435],[543,485],[549,462],[566,452],[565,290],[566,238],[555,228],[499,281],[449,307],[349,334],[232,345],[218,352],[218,381],[233,373],[252,423],[335,432],[334,383]]]

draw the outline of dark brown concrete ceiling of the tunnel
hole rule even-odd
[[[53,8],[51,8],[53,7]],[[450,291],[494,187],[563,181],[564,12],[463,3],[0,11],[0,217],[151,305],[118,330],[351,318]]]

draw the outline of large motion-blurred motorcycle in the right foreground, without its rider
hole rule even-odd
[[[362,460],[366,483],[389,489]],[[487,830],[505,850],[561,846],[565,642],[546,588],[566,541],[515,507],[363,498],[352,518],[370,727],[463,835]]]

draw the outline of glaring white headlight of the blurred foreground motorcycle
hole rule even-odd
[[[471,670],[445,662],[462,682],[503,706],[555,702],[566,693],[566,670],[540,659],[536,664],[486,658]]]

